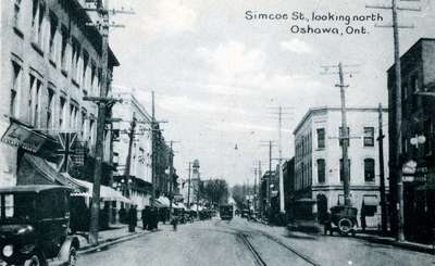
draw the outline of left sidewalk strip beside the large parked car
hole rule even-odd
[[[124,224],[111,225],[109,229],[101,230],[98,232],[99,244],[97,246],[92,246],[88,242],[88,232],[77,233],[76,236],[78,237],[78,241],[80,243],[79,253],[87,253],[110,244],[140,237],[145,233],[150,233],[150,231],[142,230],[141,227],[136,227],[135,232],[128,232],[128,225]]]

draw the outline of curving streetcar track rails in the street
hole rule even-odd
[[[252,246],[252,244],[249,242],[246,232],[244,232],[244,231],[240,230],[240,229],[236,229],[236,228],[229,227],[229,226],[227,226],[227,225],[222,225],[222,223],[216,223],[215,225],[216,225],[216,226],[217,226],[217,225],[219,225],[219,226],[223,226],[223,227],[226,227],[227,229],[232,229],[232,230],[237,231],[237,236],[243,240],[244,244],[245,244],[245,245],[249,249],[249,251],[252,253],[252,255],[253,255],[254,258],[256,258],[257,264],[258,264],[258,265],[262,265],[262,266],[266,266],[266,265],[268,265],[268,264],[262,259],[262,257],[261,257],[260,254],[257,252],[257,250]],[[266,232],[264,232],[264,231],[262,231],[262,230],[252,229],[252,228],[251,228],[251,230],[253,230],[253,231],[260,233],[261,236],[265,237],[265,238],[269,239],[270,241],[272,241],[272,242],[274,242],[274,243],[276,243],[276,244],[283,246],[284,249],[286,249],[286,250],[288,250],[288,251],[290,251],[293,254],[297,255],[298,257],[300,257],[301,259],[303,259],[303,261],[307,262],[308,264],[313,265],[313,266],[321,266],[321,265],[320,265],[319,263],[316,263],[314,259],[310,258],[309,256],[307,256],[306,254],[303,254],[303,253],[301,253],[301,252],[298,252],[297,250],[293,249],[291,246],[289,246],[289,245],[283,243],[279,239],[277,239],[277,238],[275,238],[275,237],[273,237],[273,236],[271,236],[271,235],[269,235],[269,233],[266,233]]]

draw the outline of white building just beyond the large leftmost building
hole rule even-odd
[[[113,124],[113,129],[117,135],[113,139],[113,162],[117,165],[113,178],[117,189],[123,191],[123,194],[128,195],[141,210],[145,205],[150,205],[152,189],[152,118],[132,93],[114,92],[113,97],[122,100],[122,103],[115,104],[112,109],[113,117],[122,119]],[[129,150],[129,136],[134,119],[136,126],[132,149]],[[130,161],[129,169],[126,165],[128,156]],[[129,174],[127,170],[129,170]],[[127,174],[128,176],[126,176]]]

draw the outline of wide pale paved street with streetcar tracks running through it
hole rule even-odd
[[[288,233],[241,218],[166,226],[108,250],[84,254],[78,265],[435,265],[435,257],[341,237]]]

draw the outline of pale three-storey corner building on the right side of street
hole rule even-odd
[[[296,215],[322,219],[333,205],[344,204],[343,161],[337,107],[310,109],[296,127],[294,206]],[[387,110],[382,110],[386,114]],[[385,116],[385,115],[384,115]],[[348,107],[351,203],[364,208],[368,226],[381,223],[378,109]],[[384,123],[386,124],[386,122]],[[388,136],[385,138],[387,141]],[[387,143],[384,156],[388,156]],[[385,177],[388,177],[385,164]],[[315,204],[316,203],[316,204]]]

